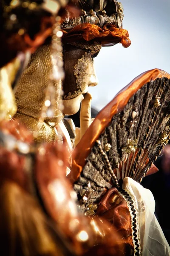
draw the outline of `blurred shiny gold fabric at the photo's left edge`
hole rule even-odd
[[[0,69],[0,120],[10,119],[17,111],[11,84],[20,67],[20,61],[14,61]]]

